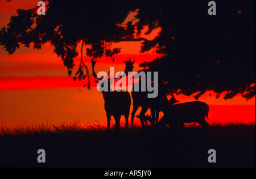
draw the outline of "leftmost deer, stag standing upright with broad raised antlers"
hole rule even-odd
[[[131,60],[123,61],[126,64],[125,68],[125,74],[127,75],[128,72],[133,71],[133,64],[134,61],[131,62]],[[94,71],[94,66],[97,63],[97,61],[92,59],[92,76],[96,78],[96,83],[99,85],[98,82],[101,80],[108,80],[108,90],[104,91],[102,90],[103,86],[101,84],[99,91],[102,92],[103,98],[105,101],[105,111],[106,116],[108,119],[108,126],[107,130],[109,130],[110,127],[110,119],[111,116],[114,116],[115,119],[115,128],[118,129],[120,126],[120,118],[121,115],[125,115],[125,121],[126,121],[126,128],[129,128],[128,118],[130,113],[130,105],[131,105],[131,97],[130,94],[127,91],[113,91],[110,88],[110,85],[113,83],[113,80],[115,78],[109,78],[108,76],[106,78],[104,77],[98,77],[96,72]],[[109,73],[108,73],[109,74]],[[121,76],[119,75],[119,79],[121,79]]]

